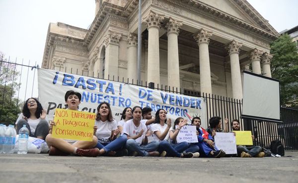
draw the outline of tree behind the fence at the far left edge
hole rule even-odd
[[[21,112],[21,102],[14,96],[19,88],[16,82],[19,73],[15,67],[7,63],[0,52],[0,123],[3,124],[14,124]]]

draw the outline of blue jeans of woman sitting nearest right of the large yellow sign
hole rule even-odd
[[[127,141],[127,136],[123,135],[113,140],[112,142],[102,143],[102,144],[100,142],[97,142],[95,148],[103,149],[106,153],[110,151],[119,151],[123,149],[126,141]]]

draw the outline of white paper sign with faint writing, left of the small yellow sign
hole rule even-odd
[[[222,149],[225,154],[237,154],[236,138],[234,133],[216,132],[214,136],[215,145]]]

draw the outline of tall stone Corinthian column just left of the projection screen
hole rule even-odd
[[[239,64],[239,49],[241,47],[242,43],[238,43],[235,40],[232,40],[232,42],[226,47],[230,57],[232,93],[233,98],[235,99],[242,99],[243,96]]]

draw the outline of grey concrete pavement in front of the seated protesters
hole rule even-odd
[[[281,158],[220,159],[0,154],[0,183],[179,182],[297,183],[298,152]]]

